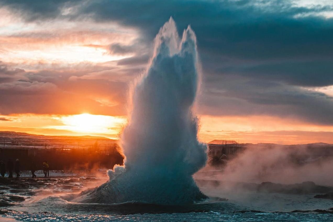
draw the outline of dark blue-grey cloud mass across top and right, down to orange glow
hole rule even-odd
[[[179,31],[190,24],[197,35],[202,114],[288,115],[333,124],[332,98],[300,87],[333,85],[333,19],[316,14],[332,6],[250,0],[2,2],[22,10],[29,21],[58,17],[66,4],[75,5],[75,13],[63,17],[139,28],[144,47],[172,16]],[[138,47],[114,44],[110,52],[135,53],[118,65],[144,65],[149,52],[138,53]]]

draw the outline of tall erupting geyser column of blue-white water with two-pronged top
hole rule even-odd
[[[192,178],[207,158],[192,113],[197,63],[194,32],[188,27],[180,39],[170,18],[155,38],[147,72],[133,88],[121,137],[125,166],[109,170],[110,181],[76,201],[178,205],[206,198]]]

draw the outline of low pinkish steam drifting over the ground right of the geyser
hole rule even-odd
[[[333,185],[333,179],[327,177],[333,170],[332,158],[324,157],[324,153],[306,147],[258,146],[231,160],[220,178],[255,183],[270,181],[293,184],[313,181],[320,185]]]

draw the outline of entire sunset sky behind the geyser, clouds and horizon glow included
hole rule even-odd
[[[118,138],[160,27],[191,25],[208,142],[333,143],[331,0],[0,0],[0,130]]]

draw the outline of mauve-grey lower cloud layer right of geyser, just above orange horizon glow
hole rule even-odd
[[[200,112],[210,115],[275,115],[333,124],[333,98],[273,81],[225,75],[204,81]]]

